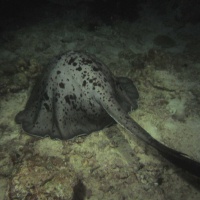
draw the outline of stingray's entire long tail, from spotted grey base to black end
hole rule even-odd
[[[137,124],[128,114],[126,114],[114,98],[109,98],[105,104],[102,103],[107,113],[122,127],[143,140],[146,144],[155,148],[164,158],[176,166],[188,171],[200,178],[200,163],[189,158],[188,155],[171,149],[159,141],[155,140],[147,131]]]

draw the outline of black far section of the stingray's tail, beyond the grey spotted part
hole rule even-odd
[[[171,149],[153,138],[149,144],[174,165],[188,171],[194,176],[200,177],[200,163],[191,159],[187,154]]]

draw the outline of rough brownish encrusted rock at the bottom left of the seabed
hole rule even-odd
[[[79,179],[64,161],[55,158],[33,157],[24,162],[11,177],[11,199],[73,199]],[[48,161],[47,161],[48,160]],[[59,161],[59,162],[60,162]],[[51,163],[51,167],[47,167]],[[61,165],[60,165],[61,164]],[[61,167],[65,166],[65,168]]]

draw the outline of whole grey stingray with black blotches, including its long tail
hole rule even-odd
[[[61,140],[118,123],[173,164],[200,177],[199,162],[155,140],[129,116],[138,97],[132,80],[115,77],[93,55],[69,51],[42,73],[15,121],[30,135]]]

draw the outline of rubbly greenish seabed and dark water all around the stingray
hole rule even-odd
[[[198,200],[199,182],[119,125],[68,141],[14,121],[49,62],[86,51],[139,91],[131,117],[200,161],[200,3],[0,1],[0,200]]]

